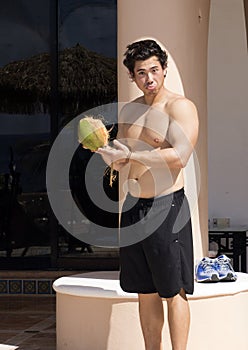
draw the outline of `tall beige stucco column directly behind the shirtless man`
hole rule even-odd
[[[199,199],[192,212],[195,259],[205,256],[208,251],[206,95],[209,4],[209,0],[157,0],[154,7],[154,2],[151,1],[118,0],[119,101],[125,102],[137,97],[137,90],[130,83],[122,64],[123,52],[127,44],[146,37],[158,40],[175,61],[178,72],[175,75],[176,70],[172,72],[169,63],[168,78],[169,74],[172,76],[168,83],[173,81],[173,84],[168,87],[176,88],[175,91],[180,93],[178,88],[183,87],[185,95],[194,101],[198,109],[200,130],[196,154],[201,186]],[[181,80],[181,83],[178,80]],[[195,181],[194,176],[191,176],[190,180]],[[185,186],[186,190],[188,188],[189,186]]]

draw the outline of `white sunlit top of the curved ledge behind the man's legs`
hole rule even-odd
[[[193,295],[188,299],[212,298],[234,295],[248,291],[248,274],[238,272],[235,282],[197,283]],[[97,271],[61,277],[54,281],[53,288],[57,293],[95,298],[131,298],[136,293],[124,292],[119,283],[119,271]]]

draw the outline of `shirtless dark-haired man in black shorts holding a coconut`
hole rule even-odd
[[[172,349],[185,350],[190,325],[186,294],[193,293],[194,278],[182,170],[197,142],[197,110],[190,100],[165,88],[167,54],[154,40],[127,46],[123,63],[143,95],[122,109],[114,147],[97,152],[119,171],[127,197],[137,198],[133,208],[122,213],[121,225],[128,228],[146,215],[148,222],[159,215],[164,219],[143,240],[120,248],[120,282],[125,291],[138,293],[146,350],[163,349],[163,298]],[[149,216],[152,207],[156,211]],[[180,216],[179,229],[174,230]]]

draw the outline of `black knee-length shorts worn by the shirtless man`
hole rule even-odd
[[[133,199],[131,198],[131,201]],[[183,288],[194,289],[194,259],[190,211],[184,189],[173,194],[138,199],[122,213],[121,227],[135,227],[144,239],[120,248],[120,284],[130,293],[158,293],[170,298]],[[155,225],[152,223],[155,222]],[[148,227],[148,229],[147,229]],[[153,232],[149,232],[154,228]]]

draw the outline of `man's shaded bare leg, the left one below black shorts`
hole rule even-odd
[[[139,294],[140,323],[146,350],[162,350],[164,309],[157,293]]]

